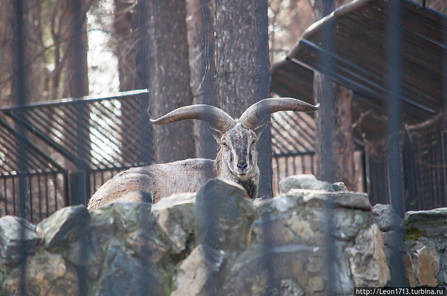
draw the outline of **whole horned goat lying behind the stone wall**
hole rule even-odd
[[[223,178],[241,184],[253,199],[258,195],[259,168],[255,143],[268,117],[278,111],[313,112],[313,106],[292,98],[268,98],[250,106],[239,119],[209,105],[178,108],[150,121],[166,124],[183,119],[204,120],[220,146],[215,160],[186,159],[132,168],[104,183],[90,198],[89,209],[115,200],[157,202],[179,192],[195,192],[209,179]]]

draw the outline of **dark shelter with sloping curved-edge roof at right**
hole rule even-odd
[[[313,75],[319,71],[354,91],[354,136],[366,148],[372,204],[388,201],[383,153],[387,145],[386,100],[397,96],[402,106],[406,208],[446,206],[447,16],[410,0],[401,4],[402,79],[398,94],[387,87],[386,0],[355,0],[310,26],[287,56],[272,65],[271,90],[314,103]],[[325,30],[331,30],[333,36],[330,48],[323,42]],[[322,62],[328,56],[330,66]],[[419,188],[427,180],[429,184]]]

